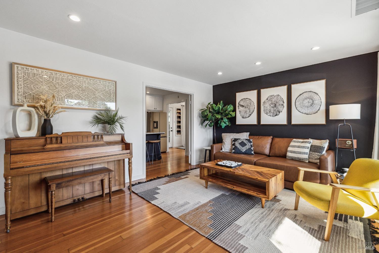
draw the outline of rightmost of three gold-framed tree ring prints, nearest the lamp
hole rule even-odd
[[[319,83],[316,83],[319,82]],[[313,84],[312,84],[313,83]],[[294,86],[296,86],[294,88]],[[301,88],[298,85],[303,85]],[[312,86],[313,85],[313,86]],[[323,86],[316,87],[316,85]],[[294,91],[296,89],[296,91]],[[308,94],[309,93],[309,94]],[[320,94],[319,94],[320,93]],[[296,98],[294,98],[294,96]],[[302,97],[300,97],[302,96]],[[302,103],[304,107],[297,107],[296,104],[301,104],[297,102],[298,99],[310,99],[310,102]],[[304,100],[304,101],[305,101]],[[320,107],[315,106],[315,101],[320,103]],[[323,113],[323,115],[315,115],[316,113]],[[297,117],[294,120],[294,117]],[[316,122],[316,123],[312,123]],[[321,122],[322,121],[322,122]],[[303,83],[293,83],[291,84],[291,125],[325,125],[326,124],[326,79],[314,80]]]

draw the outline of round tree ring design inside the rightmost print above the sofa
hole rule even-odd
[[[312,115],[321,108],[321,97],[314,91],[304,91],[295,99],[295,107],[299,113]]]

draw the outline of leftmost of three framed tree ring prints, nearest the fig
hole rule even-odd
[[[236,125],[258,123],[258,90],[236,92]]]

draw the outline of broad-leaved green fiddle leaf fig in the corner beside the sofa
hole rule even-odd
[[[213,127],[213,134],[215,135],[216,143],[216,124],[222,128],[225,126],[230,126],[229,118],[232,118],[236,115],[236,113],[233,112],[233,109],[233,105],[224,106],[224,103],[222,103],[222,101],[217,105],[209,102],[206,108],[200,109],[202,118],[201,125],[203,126],[203,124],[206,122],[207,124],[205,124],[205,127]]]

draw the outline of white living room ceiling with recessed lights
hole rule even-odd
[[[9,0],[0,27],[212,85],[379,50],[349,0]]]

